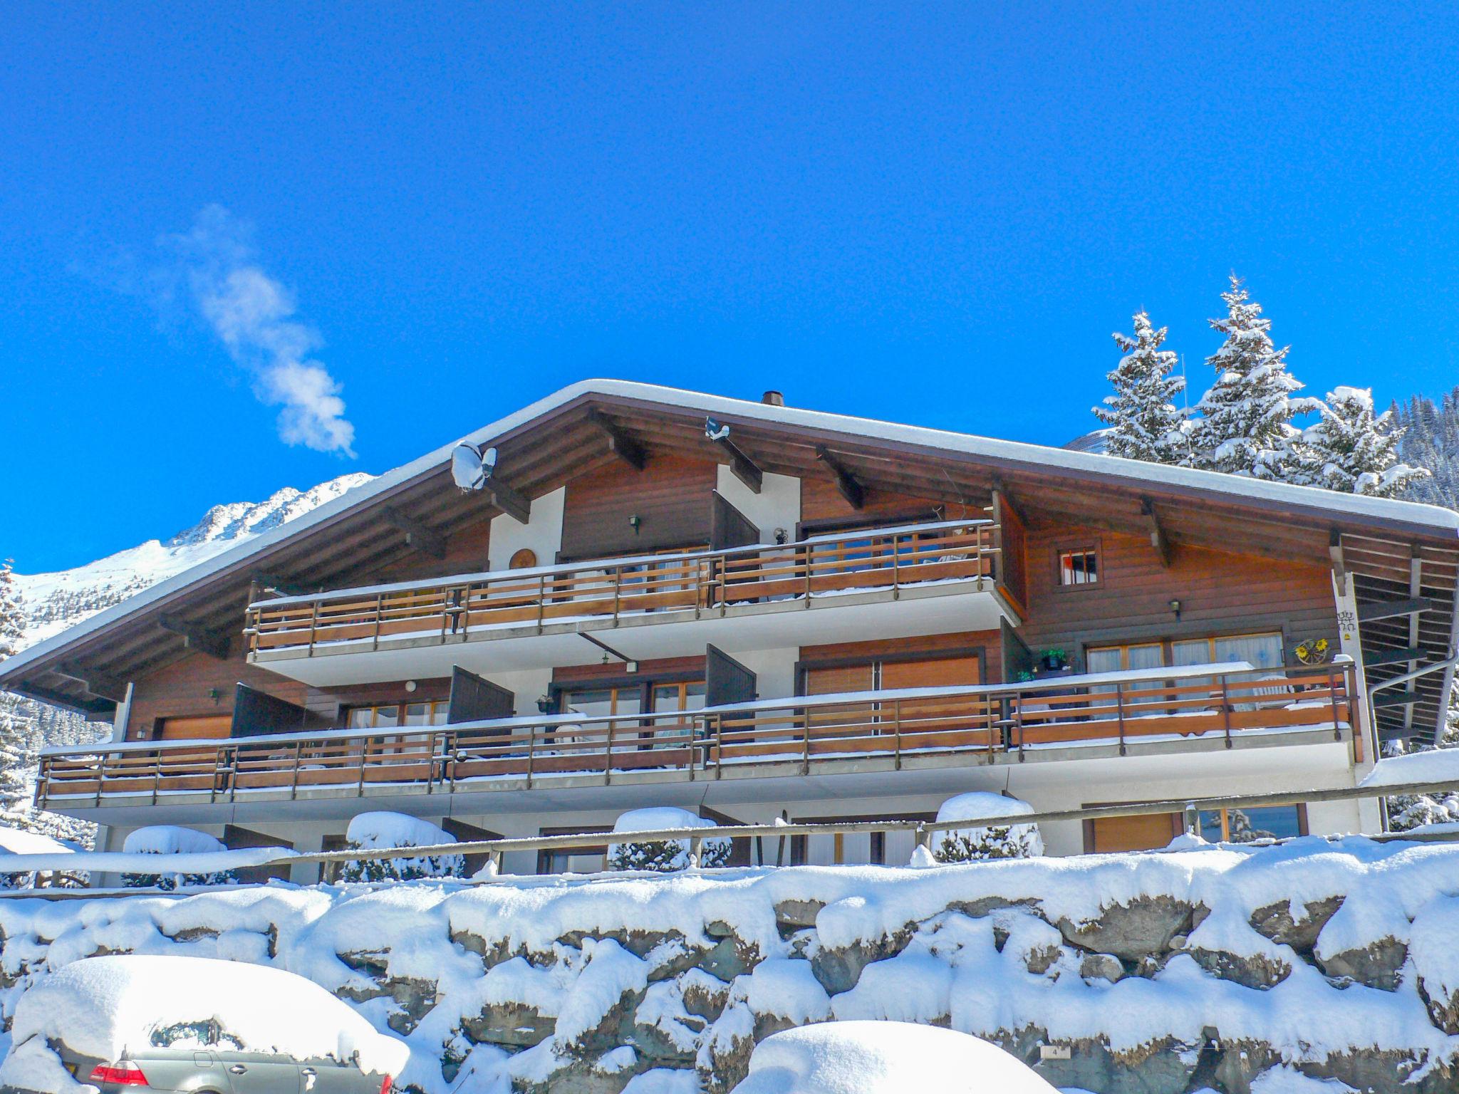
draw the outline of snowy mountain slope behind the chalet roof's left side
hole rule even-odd
[[[70,570],[16,573],[26,617],[25,642],[51,637],[159,581],[303,516],[371,478],[355,473],[311,490],[286,486],[263,502],[214,505],[201,521],[169,540],[149,540]]]

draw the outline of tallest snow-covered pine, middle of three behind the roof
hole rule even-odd
[[[1215,369],[1215,384],[1201,397],[1201,413],[1192,423],[1193,462],[1211,471],[1285,480],[1291,462],[1291,441],[1299,430],[1297,414],[1317,408],[1317,401],[1294,397],[1301,384],[1287,372],[1287,350],[1272,344],[1271,319],[1249,300],[1246,289],[1231,274],[1224,319],[1211,327],[1226,335],[1207,363]]]

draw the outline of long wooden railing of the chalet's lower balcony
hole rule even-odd
[[[1069,677],[1058,683],[903,688],[791,697],[692,713],[632,718],[547,715],[406,732],[330,731],[226,741],[67,747],[41,757],[36,802],[102,805],[108,796],[174,794],[236,801],[255,791],[344,788],[363,795],[535,785],[556,776],[645,770],[713,779],[737,764],[982,753],[1017,754],[1087,742],[1220,738],[1354,725],[1351,665],[1274,672],[1201,665]],[[90,799],[88,802],[88,799]]]

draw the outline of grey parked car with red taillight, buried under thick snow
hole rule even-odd
[[[401,1041],[301,976],[201,957],[69,964],[20,998],[10,1034],[0,1087],[44,1094],[382,1094],[409,1058]]]

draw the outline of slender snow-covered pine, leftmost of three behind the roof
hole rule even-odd
[[[1125,354],[1109,373],[1115,394],[1104,397],[1103,407],[1094,407],[1094,417],[1109,426],[1104,451],[1128,459],[1189,465],[1185,414],[1174,403],[1185,389],[1185,378],[1170,375],[1176,354],[1160,349],[1166,328],[1151,327],[1150,315],[1141,309],[1135,312],[1134,335],[1113,337]]]

